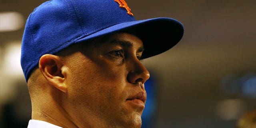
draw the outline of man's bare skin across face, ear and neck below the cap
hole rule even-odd
[[[149,78],[142,52],[140,38],[117,33],[42,56],[28,80],[32,119],[63,128],[140,128]]]

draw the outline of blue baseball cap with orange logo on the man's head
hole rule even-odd
[[[165,52],[184,33],[172,18],[135,20],[124,0],[50,0],[34,9],[22,38],[21,66],[28,82],[44,54],[56,54],[71,44],[125,30],[136,30],[145,51],[142,59]]]

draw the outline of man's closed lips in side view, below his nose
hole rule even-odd
[[[147,98],[146,92],[139,92],[136,95],[126,99],[126,101],[134,104],[135,106],[144,108],[146,98]]]

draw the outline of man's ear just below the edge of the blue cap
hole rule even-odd
[[[59,56],[45,54],[39,60],[39,69],[48,83],[62,92],[67,92],[65,77],[67,69],[64,67]]]

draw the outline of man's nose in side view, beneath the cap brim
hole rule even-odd
[[[146,80],[148,80],[150,74],[146,67],[140,62],[140,60],[136,59],[130,63],[130,70],[128,72],[128,82],[132,84],[144,84]],[[141,85],[142,86],[142,85]]]

